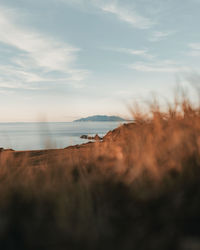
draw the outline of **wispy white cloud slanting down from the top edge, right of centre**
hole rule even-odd
[[[114,1],[107,4],[99,4],[99,8],[107,13],[115,15],[120,20],[129,23],[137,29],[148,29],[154,24],[152,20],[140,15],[135,9],[126,8],[124,5],[119,5]]]

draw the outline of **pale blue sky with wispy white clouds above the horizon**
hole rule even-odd
[[[0,0],[0,122],[128,116],[198,84],[200,0]]]

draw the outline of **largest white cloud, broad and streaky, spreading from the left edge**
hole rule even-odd
[[[2,83],[12,86],[17,81],[25,87],[27,83],[85,79],[88,71],[76,68],[80,49],[17,25],[17,14],[0,8],[0,43],[12,52],[8,53],[8,65],[0,64]]]

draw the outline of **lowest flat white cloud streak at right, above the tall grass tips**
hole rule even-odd
[[[129,68],[141,72],[161,72],[161,73],[178,73],[187,72],[189,67],[181,65],[173,61],[155,61],[151,63],[137,62],[129,66]]]

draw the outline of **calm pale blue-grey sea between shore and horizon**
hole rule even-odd
[[[87,142],[83,134],[105,135],[119,122],[0,123],[0,147],[14,150],[64,148]]]

